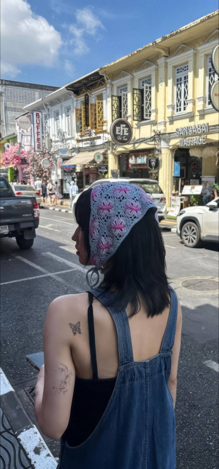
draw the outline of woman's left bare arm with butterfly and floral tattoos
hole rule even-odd
[[[39,371],[35,389],[37,421],[44,435],[52,439],[59,439],[68,426],[75,383],[69,325],[62,310],[60,297],[48,308],[43,336],[45,366]]]

